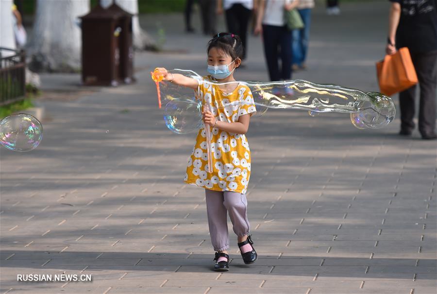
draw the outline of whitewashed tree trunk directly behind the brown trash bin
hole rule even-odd
[[[101,6],[109,7],[113,2],[124,9],[126,12],[133,14],[132,31],[134,49],[136,50],[156,50],[156,44],[149,34],[141,29],[138,19],[138,0],[101,0]]]

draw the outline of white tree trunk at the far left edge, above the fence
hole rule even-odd
[[[0,47],[16,49],[14,36],[12,0],[0,0]],[[12,51],[0,50],[0,56],[14,55]]]

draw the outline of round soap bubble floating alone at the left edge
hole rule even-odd
[[[42,125],[27,113],[17,113],[0,121],[0,143],[12,151],[31,151],[42,139]]]

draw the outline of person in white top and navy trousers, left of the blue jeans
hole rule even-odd
[[[298,4],[299,0],[266,0],[260,3],[253,33],[262,34],[270,81],[291,79],[291,31],[286,26],[284,10],[291,10]],[[279,49],[281,69],[278,64]]]

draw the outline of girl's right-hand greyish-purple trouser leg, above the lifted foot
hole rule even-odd
[[[238,237],[246,236],[250,230],[250,224],[247,219],[246,194],[224,191],[223,198],[223,205],[228,210],[235,234]]]

